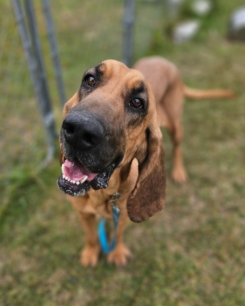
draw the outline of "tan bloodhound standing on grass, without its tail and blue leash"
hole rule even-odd
[[[165,205],[164,148],[159,128],[174,141],[175,181],[186,180],[180,143],[185,89],[176,67],[160,57],[144,58],[134,69],[106,60],[87,70],[79,90],[65,104],[60,131],[62,175],[58,187],[69,195],[83,226],[83,266],[96,266],[100,244],[96,215],[112,219],[111,199],[120,193],[115,249],[109,263],[131,256],[123,231]],[[224,94],[224,93],[223,93]]]

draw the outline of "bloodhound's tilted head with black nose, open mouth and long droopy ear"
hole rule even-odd
[[[138,180],[127,201],[130,219],[141,222],[163,208],[162,136],[153,93],[139,71],[115,60],[87,70],[63,118],[58,179],[63,192],[78,196],[91,187],[106,188],[115,168],[136,158]]]

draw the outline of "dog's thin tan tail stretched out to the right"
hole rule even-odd
[[[234,92],[226,89],[194,89],[184,85],[184,95],[190,99],[219,99],[219,98],[235,98]]]

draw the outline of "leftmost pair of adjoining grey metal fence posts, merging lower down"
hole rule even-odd
[[[42,66],[41,49],[37,37],[35,18],[32,15],[32,7],[31,7],[32,3],[26,0],[26,7],[29,10],[28,13],[30,13],[30,16],[28,16],[31,28],[30,32],[31,35],[35,36],[35,37],[32,36],[32,42],[36,54],[34,54],[32,49],[32,42],[28,35],[28,30],[25,24],[25,15],[21,7],[21,4],[19,0],[11,0],[11,4],[13,7],[15,19],[17,21],[17,26],[20,33],[21,42],[25,53],[25,58],[28,63],[28,69],[34,85],[34,90],[39,100],[44,126],[47,131],[48,150],[47,150],[46,162],[49,162],[54,155],[55,151],[54,138],[57,137],[57,135],[55,132],[55,121],[51,108],[51,101],[47,91],[47,80],[44,73],[44,67]],[[37,58],[35,57],[35,55]]]

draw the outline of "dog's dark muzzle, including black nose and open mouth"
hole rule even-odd
[[[107,150],[104,150],[103,140],[105,128],[96,114],[73,110],[66,116],[61,129],[66,160],[57,181],[63,192],[79,196],[91,187],[98,190],[108,186],[117,159],[109,162],[109,166],[104,166],[104,152]],[[111,158],[111,154],[108,156]],[[100,169],[104,172],[101,173]]]

